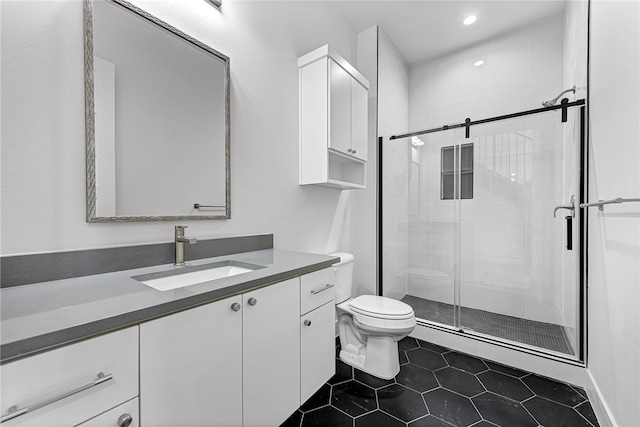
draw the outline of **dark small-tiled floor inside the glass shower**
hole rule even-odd
[[[417,318],[453,326],[453,305],[406,295]],[[466,329],[559,353],[574,355],[564,328],[552,323],[536,322],[474,308],[461,308],[461,322]]]

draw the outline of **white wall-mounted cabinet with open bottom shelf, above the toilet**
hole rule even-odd
[[[364,188],[369,82],[328,45],[298,58],[300,185]]]

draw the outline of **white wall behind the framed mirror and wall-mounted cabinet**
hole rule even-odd
[[[188,234],[274,233],[283,249],[349,250],[347,192],[298,185],[297,57],[329,43],[356,59],[355,31],[330,2],[134,3],[231,58],[232,219],[189,222]],[[82,2],[0,7],[0,252],[172,240],[173,223],[85,222]]]

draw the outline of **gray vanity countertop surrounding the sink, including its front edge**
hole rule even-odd
[[[330,267],[339,258],[266,249],[189,265],[224,260],[266,268],[170,291],[157,291],[132,276],[174,270],[171,264],[4,288],[0,290],[1,362]]]

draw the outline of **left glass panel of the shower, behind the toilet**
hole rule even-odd
[[[455,170],[460,130],[382,140],[382,290],[425,322],[457,327]]]

